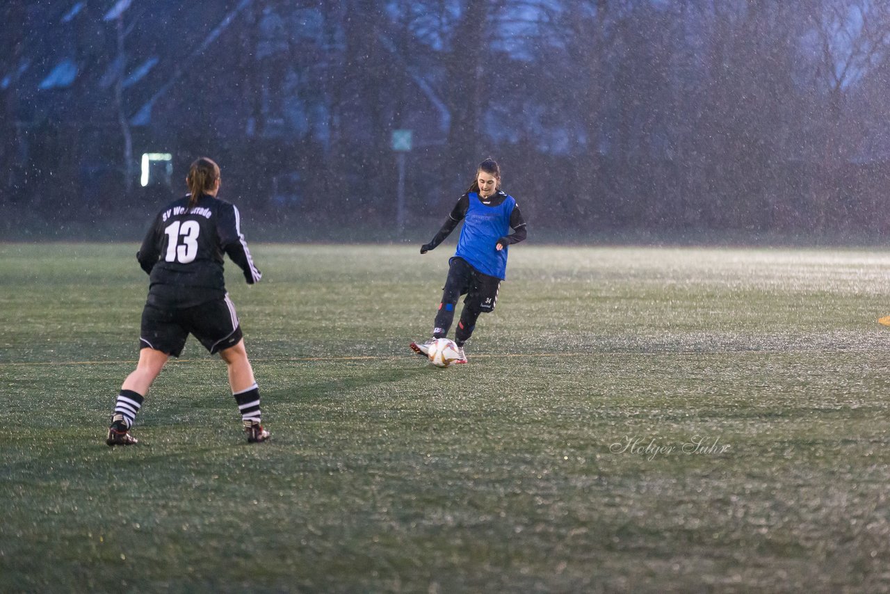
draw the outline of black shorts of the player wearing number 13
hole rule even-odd
[[[235,305],[228,295],[194,307],[145,304],[139,347],[178,357],[189,334],[215,354],[235,346],[243,337]]]

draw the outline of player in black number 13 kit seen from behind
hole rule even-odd
[[[247,360],[235,305],[225,290],[223,254],[244,271],[247,284],[262,278],[244,235],[238,208],[216,198],[220,168],[211,159],[191,164],[190,194],[171,202],[155,217],[136,259],[150,274],[149,297],[142,310],[139,363],[117,395],[106,443],[136,443],[130,435],[136,413],[151,383],[170,355],[178,357],[189,334],[229,368],[229,384],[247,432],[247,441],[263,442],[260,391]]]

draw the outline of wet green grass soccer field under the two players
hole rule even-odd
[[[190,339],[133,369],[135,245],[0,245],[0,591],[890,590],[890,253],[514,248],[469,365],[444,246],[228,264],[273,441]]]

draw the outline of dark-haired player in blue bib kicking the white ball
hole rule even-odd
[[[465,363],[464,343],[473,334],[479,314],[493,312],[498,303],[498,288],[506,275],[507,246],[526,236],[525,220],[516,200],[500,189],[500,167],[494,159],[479,164],[473,184],[457,200],[433,240],[420,248],[420,253],[438,246],[461,220],[464,228],[457,240],[457,252],[449,260],[448,279],[433,321],[433,338],[421,344],[412,342],[410,346],[415,353],[426,355],[434,338],[448,336],[457,299],[466,294],[454,333],[460,355],[457,362]],[[508,234],[511,227],[514,232]]]

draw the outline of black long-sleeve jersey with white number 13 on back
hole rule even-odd
[[[174,200],[155,217],[136,259],[150,274],[149,302],[190,307],[225,296],[223,254],[244,271],[247,284],[260,281],[238,207],[206,194],[189,208]]]

